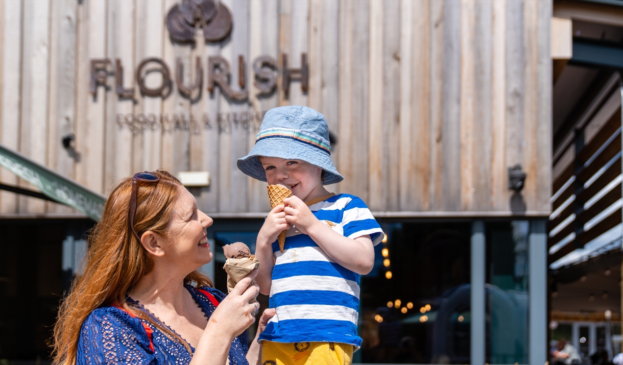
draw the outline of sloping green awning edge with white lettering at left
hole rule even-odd
[[[21,153],[0,145],[0,166],[36,186],[45,196],[100,219],[106,197],[42,166]]]

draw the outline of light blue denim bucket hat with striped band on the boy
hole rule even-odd
[[[331,161],[329,127],[325,116],[308,107],[272,108],[264,115],[255,146],[237,166],[254,179],[266,181],[266,172],[258,156],[300,159],[325,171],[323,185],[344,178]]]

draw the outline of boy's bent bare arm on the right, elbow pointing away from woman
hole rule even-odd
[[[303,234],[309,235],[331,260],[361,275],[372,270],[374,245],[369,235],[355,239],[344,237],[318,220],[298,197],[288,197],[283,202],[287,204],[284,209],[287,214],[285,220]]]

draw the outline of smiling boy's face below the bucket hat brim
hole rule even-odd
[[[266,172],[270,185],[282,184],[292,190],[292,194],[302,201],[316,189],[322,189],[320,178],[322,169],[300,159],[261,157],[260,163]]]

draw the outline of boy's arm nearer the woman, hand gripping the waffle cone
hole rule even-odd
[[[270,211],[260,232],[257,234],[255,257],[257,257],[257,260],[260,262],[260,268],[257,277],[255,277],[255,282],[260,287],[260,293],[264,295],[270,295],[272,269],[275,266],[272,243],[277,240],[277,236],[283,230],[287,229],[290,229],[290,225],[285,220],[283,205],[279,205]]]

